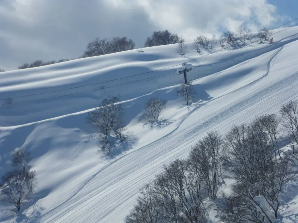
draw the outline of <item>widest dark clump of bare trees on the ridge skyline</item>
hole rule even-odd
[[[88,43],[87,49],[83,54],[83,57],[100,56],[104,54],[111,54],[126,50],[132,50],[135,47],[135,43],[127,37],[114,37],[113,39],[100,39],[95,38]]]

